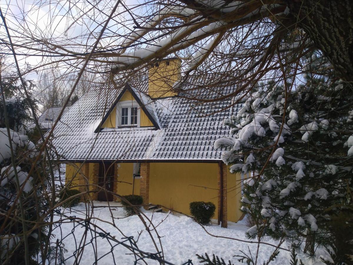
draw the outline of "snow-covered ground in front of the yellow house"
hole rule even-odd
[[[95,206],[107,206],[107,202],[94,202]],[[135,239],[138,238],[137,245],[139,249],[145,252],[156,252],[154,245],[151,241],[148,232],[138,216],[125,217],[124,210],[120,206],[120,203],[113,202],[110,203],[110,210],[108,207],[94,208],[93,216],[97,219],[92,220],[93,223],[100,226],[106,232],[110,232],[110,235],[115,236],[116,239],[120,240],[124,236],[133,236]],[[71,209],[62,209],[67,216],[76,216],[77,218],[86,218],[86,204],[80,203],[78,206]],[[257,244],[254,243],[244,243],[232,239],[217,238],[208,235],[200,225],[194,222],[191,218],[186,216],[175,216],[168,213],[153,213],[152,211],[145,211],[143,213],[149,218],[152,218],[152,223],[157,226],[158,234],[161,236],[161,242],[164,251],[165,260],[173,264],[183,264],[188,259],[192,259],[193,264],[199,264],[196,254],[203,255],[205,252],[210,256],[216,254],[227,260],[231,260],[234,264],[240,264],[234,255],[239,255],[240,250],[248,253],[248,247],[252,252],[252,255],[257,251]],[[111,223],[113,222],[112,217],[116,227]],[[100,219],[100,220],[98,220]],[[110,224],[109,224],[109,223]],[[71,234],[73,228],[73,222],[63,223],[61,225],[62,236],[68,235],[64,239],[65,248],[68,253],[65,257],[70,257],[76,250],[76,244],[79,244],[85,228],[78,226],[74,229],[74,240],[73,234]],[[243,222],[238,223],[228,223],[228,228],[221,228],[217,224],[207,225],[206,229],[213,235],[226,236],[231,238],[238,238],[241,240],[247,240],[244,233],[247,230],[246,225]],[[120,230],[120,231],[119,231]],[[97,230],[98,231],[98,230]],[[54,234],[60,238],[60,230],[57,228],[54,230]],[[122,235],[122,234],[124,235]],[[139,233],[140,236],[139,236]],[[152,231],[154,238],[157,241],[157,236],[154,231]],[[86,243],[91,239],[91,233],[88,232]],[[276,245],[273,241],[267,241]],[[113,255],[110,253],[110,244],[106,238],[98,237],[97,241],[93,241],[96,245],[97,257],[101,257],[106,253],[109,253],[102,259],[98,260],[98,264],[114,264]],[[159,246],[158,246],[159,247]],[[282,247],[286,247],[283,245]],[[269,255],[273,252],[274,247],[261,244],[258,253],[258,263],[263,264],[263,261],[267,260]],[[116,264],[134,264],[134,257],[131,252],[125,247],[116,246],[113,250],[114,259]],[[275,261],[270,264],[289,264],[290,252],[281,250],[279,256]],[[320,261],[312,262],[304,260],[304,264],[322,264]],[[84,253],[80,260],[80,264],[93,264],[95,262],[94,250],[91,245],[88,245],[84,249]],[[154,260],[146,260],[147,264],[158,264]],[[70,258],[67,264],[73,264],[74,258]],[[144,264],[140,261],[138,264]]]

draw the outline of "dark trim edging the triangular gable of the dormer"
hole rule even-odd
[[[143,110],[143,112],[146,114],[146,116],[150,119],[150,121],[152,122],[153,126],[158,130],[161,129],[158,117],[155,113],[155,111],[153,110],[153,108],[150,106],[152,104],[152,102],[149,101],[148,97],[145,95],[138,95],[137,92],[134,91],[134,89],[132,89],[130,87],[130,85],[128,83],[126,83],[125,87],[121,90],[121,92],[119,93],[118,97],[115,99],[114,103],[112,106],[110,106],[109,110],[107,111],[107,113],[104,115],[102,121],[100,122],[100,124],[98,125],[98,127],[95,129],[95,133],[98,133],[98,131],[100,131],[100,129],[102,129],[104,122],[109,118],[110,114],[113,112],[113,110],[116,107],[116,104],[118,104],[118,102],[120,101],[121,97],[124,95],[124,93],[128,91],[131,93],[132,97],[136,100],[137,104],[141,107],[141,109]]]

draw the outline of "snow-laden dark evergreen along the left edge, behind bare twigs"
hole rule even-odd
[[[4,118],[6,128],[0,128],[0,208],[3,213],[0,216],[0,263],[26,264],[27,256],[27,262],[38,264],[36,259],[42,255],[44,259],[48,257],[48,261],[57,260],[62,264],[62,253],[66,250],[62,244],[53,246],[50,242],[48,215],[44,214],[49,210],[49,196],[55,195],[50,194],[48,188],[46,161],[41,157],[34,164],[37,147],[27,135],[18,131],[23,128],[26,116],[19,116],[18,111],[7,111],[25,112],[24,104],[21,99],[8,99],[1,107],[0,116]],[[17,122],[11,123],[11,120]],[[48,249],[44,251],[46,246]]]

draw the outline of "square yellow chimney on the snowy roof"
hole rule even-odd
[[[148,94],[151,98],[175,96],[173,85],[180,79],[181,60],[162,59],[148,70]]]

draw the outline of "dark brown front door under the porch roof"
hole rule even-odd
[[[114,191],[114,164],[100,163],[98,185],[110,192]],[[113,201],[113,194],[104,190],[98,193],[98,201]]]

